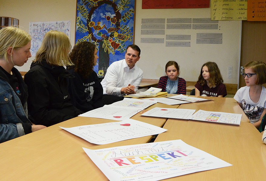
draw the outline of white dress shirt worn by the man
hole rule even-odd
[[[137,65],[129,69],[125,59],[113,62],[101,82],[103,94],[122,96],[121,89],[128,84],[134,85],[135,90],[138,90],[142,77],[143,71]]]

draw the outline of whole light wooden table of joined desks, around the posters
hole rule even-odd
[[[205,106],[207,108],[215,106],[213,103],[224,105],[216,105],[216,111],[220,112],[227,110],[225,109],[225,104],[229,106],[237,104],[234,100],[228,98],[215,98],[212,100],[212,103],[211,101],[206,101],[200,104],[210,104],[210,106]],[[180,108],[185,105],[193,107],[200,104],[188,103],[170,106],[156,103],[145,110],[150,110],[154,107]],[[204,107],[201,109],[204,110]],[[231,111],[241,113],[239,109],[232,109]],[[141,114],[137,113],[131,119],[167,129],[166,132],[159,134],[155,141],[182,139],[191,146],[233,164],[231,167],[192,173],[170,178],[169,180],[265,179],[266,145],[261,141],[261,134],[251,123],[243,121],[240,126],[236,126],[146,117],[141,116]],[[148,143],[153,136],[96,145],[59,127],[75,127],[106,122],[115,121],[78,116],[37,132],[1,143],[1,180],[108,180],[90,160],[82,147],[101,149]]]

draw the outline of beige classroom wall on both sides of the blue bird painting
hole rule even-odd
[[[0,0],[0,16],[19,19],[20,28],[29,31],[29,22],[37,21],[71,21],[70,41],[72,47],[75,41],[76,0]],[[166,13],[167,12],[167,13]],[[205,30],[171,30],[169,34],[191,34],[191,47],[165,47],[164,44],[140,43],[141,18],[206,18],[210,8],[198,9],[142,9],[141,0],[136,0],[135,6],[135,44],[141,48],[141,59],[138,66],[144,71],[143,78],[159,79],[164,75],[164,66],[169,60],[176,60],[180,64],[180,77],[186,81],[197,81],[198,72],[203,63],[217,62],[224,82],[238,84],[238,64],[240,51],[241,21],[219,21],[220,30],[210,30],[210,33],[223,33],[222,45],[195,44],[196,33]],[[184,31],[184,32],[183,32]],[[166,32],[166,33],[167,33]],[[157,37],[157,36],[156,36]],[[165,35],[158,36],[165,38]],[[19,71],[30,69],[31,57]],[[228,66],[233,67],[232,78],[227,78]]]

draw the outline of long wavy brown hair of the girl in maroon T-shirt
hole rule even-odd
[[[198,79],[198,83],[200,83],[201,86],[203,86],[204,84],[206,84],[206,80],[203,78],[202,76],[202,68],[206,66],[208,67],[208,71],[209,71],[209,85],[210,87],[215,87],[218,86],[219,84],[223,83],[223,79],[222,79],[222,75],[221,72],[217,66],[217,64],[215,62],[206,62],[205,64],[202,65],[201,69],[200,69],[200,76]]]

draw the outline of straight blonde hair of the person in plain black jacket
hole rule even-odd
[[[44,35],[44,40],[36,52],[33,62],[41,63],[43,59],[46,59],[50,65],[73,65],[68,57],[68,51],[70,49],[70,40],[65,33],[55,30],[48,31]]]

